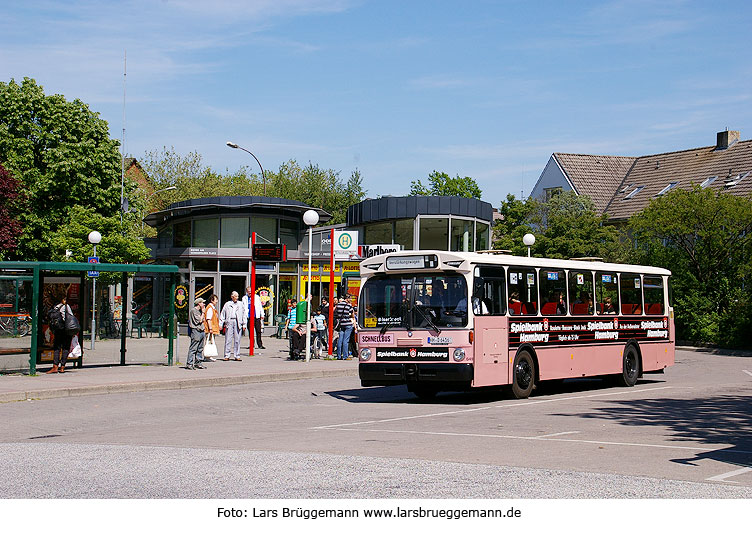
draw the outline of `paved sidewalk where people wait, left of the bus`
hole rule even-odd
[[[44,374],[49,365],[43,365],[37,369],[39,373],[36,376],[0,375],[0,402],[147,390],[220,387],[322,377],[353,376],[357,380],[357,359],[349,361],[312,359],[308,363],[290,361],[287,359],[288,341],[266,336],[264,337],[266,349],[256,349],[255,355],[249,357],[248,338],[244,337],[243,341],[241,361],[207,362],[204,370],[186,370],[184,368],[185,353],[177,354],[181,366],[171,367],[166,366],[166,363],[103,365],[97,363],[93,354],[89,354],[84,358],[83,368],[71,368],[72,365],[69,362],[63,374]],[[187,351],[187,346],[188,343],[181,337],[180,351]],[[221,343],[218,348],[222,349]],[[151,359],[159,360],[161,357]]]

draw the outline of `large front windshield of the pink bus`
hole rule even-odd
[[[376,276],[361,291],[366,328],[452,328],[467,325],[467,283],[459,274]]]

